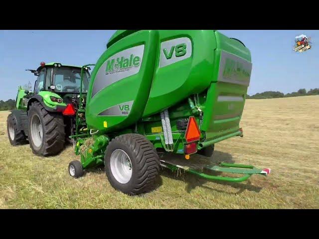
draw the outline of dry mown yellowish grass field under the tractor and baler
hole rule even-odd
[[[102,168],[68,175],[72,147],[49,158],[13,147],[0,112],[0,208],[319,208],[319,96],[247,100],[244,137],[215,145],[215,159],[270,167],[269,177],[208,182],[161,173],[157,190],[130,197],[115,191]]]

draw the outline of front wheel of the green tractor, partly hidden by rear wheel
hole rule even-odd
[[[26,136],[13,114],[8,115],[8,118],[6,119],[6,131],[11,145],[16,146],[27,143]]]

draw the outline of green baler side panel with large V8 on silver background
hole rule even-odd
[[[155,76],[143,117],[157,114],[192,94],[204,91],[213,78],[213,55],[216,48],[213,30],[160,30],[159,32],[160,54],[156,59]],[[167,41],[172,43],[165,45]],[[191,49],[188,42],[191,43]],[[186,54],[180,57],[181,60],[176,61],[179,58],[176,46],[179,44],[187,46]],[[189,51],[191,55],[186,58]],[[164,61],[170,61],[171,64],[167,65],[166,62],[161,65],[161,57],[167,58],[167,60],[164,58]]]

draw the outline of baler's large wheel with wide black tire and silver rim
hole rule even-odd
[[[111,140],[104,164],[113,188],[128,195],[137,195],[154,189],[160,158],[145,136],[128,133]]]

